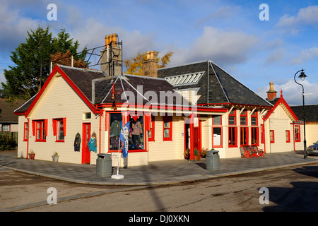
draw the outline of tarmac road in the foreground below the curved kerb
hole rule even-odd
[[[49,187],[57,189],[57,204],[47,203]],[[317,212],[318,164],[150,187],[76,184],[1,169],[0,200],[1,211]]]

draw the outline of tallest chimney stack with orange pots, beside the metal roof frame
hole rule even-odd
[[[100,69],[109,76],[122,74],[122,49],[117,42],[117,34],[105,36],[105,48],[100,51]]]

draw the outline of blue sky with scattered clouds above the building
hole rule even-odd
[[[124,57],[137,52],[175,52],[169,66],[210,59],[254,92],[266,97],[269,82],[290,105],[302,104],[293,80],[300,69],[306,104],[318,104],[317,1],[25,1],[0,0],[0,81],[12,65],[11,51],[25,42],[27,30],[65,28],[88,48],[105,44],[117,33]],[[47,20],[48,4],[57,20]],[[269,20],[259,20],[261,4]]]

